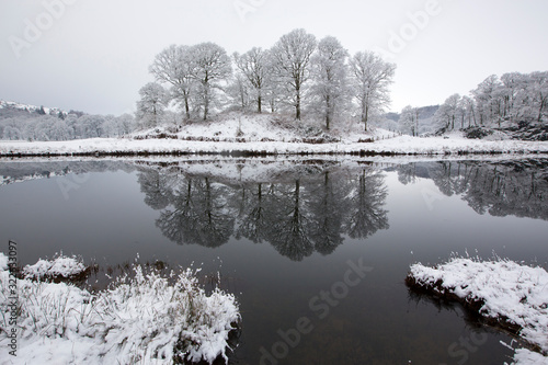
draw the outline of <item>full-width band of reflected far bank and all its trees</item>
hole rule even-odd
[[[402,184],[432,180],[478,214],[548,220],[547,159],[388,167],[362,160],[18,161],[0,163],[0,184],[118,170],[137,171],[145,203],[159,210],[156,225],[171,241],[215,248],[235,237],[267,242],[295,261],[388,229],[385,171],[397,171]]]

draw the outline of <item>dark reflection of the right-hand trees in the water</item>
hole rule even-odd
[[[460,195],[478,214],[548,220],[548,161],[438,161],[399,167],[399,181],[432,179],[439,191]]]

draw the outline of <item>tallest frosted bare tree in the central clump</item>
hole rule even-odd
[[[304,85],[310,78],[310,58],[316,49],[316,37],[305,30],[295,30],[279,38],[272,48],[276,78],[288,90],[295,106],[295,118],[300,121]]]

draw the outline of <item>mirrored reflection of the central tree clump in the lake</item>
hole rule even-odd
[[[179,244],[219,247],[235,236],[269,242],[301,261],[332,253],[344,235],[363,239],[388,228],[387,187],[374,166],[358,170],[312,166],[271,182],[222,182],[176,166],[139,168],[145,202],[157,226]],[[227,180],[227,179],[224,179]]]

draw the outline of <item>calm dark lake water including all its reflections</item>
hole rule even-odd
[[[548,161],[1,162],[0,242],[33,263],[219,271],[233,364],[503,364],[511,337],[411,293],[415,262],[547,267]]]

